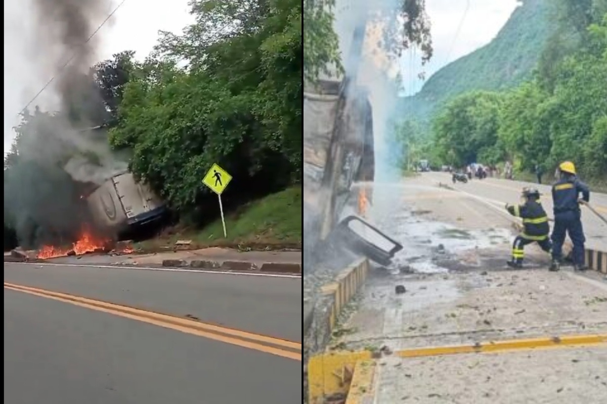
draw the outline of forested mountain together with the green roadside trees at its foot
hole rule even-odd
[[[392,134],[403,168],[423,155],[455,167],[509,160],[524,175],[569,160],[607,184],[607,0],[526,1],[407,102],[413,113],[403,106]]]

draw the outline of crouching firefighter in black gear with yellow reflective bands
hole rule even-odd
[[[524,230],[514,239],[512,243],[512,259],[507,265],[510,268],[522,268],[524,258],[524,247],[527,244],[537,242],[546,253],[551,253],[552,243],[549,239],[550,225],[548,214],[540,204],[540,191],[535,188],[523,188],[523,204],[506,204],[506,210],[512,216],[523,219]]]

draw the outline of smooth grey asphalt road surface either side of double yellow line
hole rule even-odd
[[[302,395],[300,360],[6,288],[300,342],[299,279],[4,263],[4,282],[5,402],[283,404]]]

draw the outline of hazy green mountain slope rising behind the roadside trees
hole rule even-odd
[[[436,71],[419,93],[402,98],[403,118],[428,121],[436,107],[458,94],[503,90],[530,78],[550,36],[548,7],[547,0],[524,1],[489,44]]]

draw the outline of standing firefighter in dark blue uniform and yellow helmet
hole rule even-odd
[[[552,229],[552,265],[551,271],[558,271],[563,254],[565,233],[573,243],[573,265],[575,271],[586,270],[584,264],[584,230],[580,194],[586,202],[590,199],[588,185],[577,178],[575,165],[566,161],[558,166],[558,180],[552,185],[552,205],[554,205],[554,229]]]

